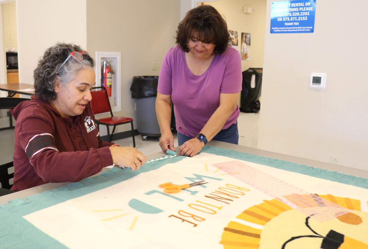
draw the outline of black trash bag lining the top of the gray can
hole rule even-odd
[[[134,76],[130,90],[133,99],[157,96],[158,76]]]

